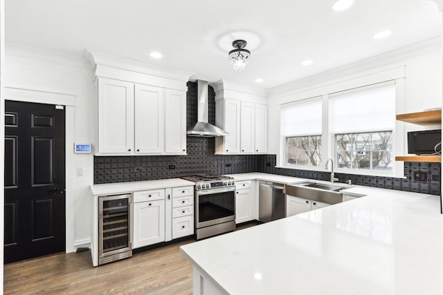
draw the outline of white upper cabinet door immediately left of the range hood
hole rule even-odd
[[[186,93],[165,90],[165,153],[186,153]]]

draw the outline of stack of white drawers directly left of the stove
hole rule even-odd
[[[194,234],[194,187],[172,188],[172,239]]]

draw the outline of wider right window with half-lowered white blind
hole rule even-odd
[[[329,98],[336,167],[392,171],[394,82],[344,91]]]

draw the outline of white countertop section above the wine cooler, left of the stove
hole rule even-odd
[[[91,191],[93,196],[115,195],[116,193],[132,193],[133,191],[146,191],[149,189],[165,189],[167,187],[186,187],[194,185],[194,182],[181,178],[161,180],[145,180],[132,182],[116,182],[107,184],[93,184]]]

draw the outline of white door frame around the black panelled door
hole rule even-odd
[[[75,95],[64,93],[52,93],[24,88],[12,88],[5,86],[3,99],[15,100],[17,102],[35,102],[39,104],[58,104],[66,106],[65,109],[65,172],[66,172],[66,253],[75,251],[74,249],[74,189],[75,189],[75,156],[73,145],[75,141]],[[3,199],[4,202],[4,199]],[[4,212],[1,212],[1,216]],[[2,217],[3,220],[3,217]],[[4,227],[4,225],[3,225]]]

